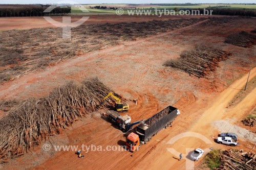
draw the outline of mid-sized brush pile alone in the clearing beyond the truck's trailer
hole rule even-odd
[[[194,50],[184,51],[180,58],[167,60],[164,65],[174,67],[198,78],[207,78],[215,71],[218,63],[226,60],[230,53],[214,47],[196,46]]]

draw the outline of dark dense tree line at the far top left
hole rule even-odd
[[[48,16],[71,13],[71,7],[56,7],[50,13],[44,12],[50,5],[0,5],[0,17]]]

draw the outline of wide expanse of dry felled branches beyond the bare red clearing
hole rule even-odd
[[[81,25],[72,29],[72,39],[68,40],[61,38],[60,28],[0,32],[0,82],[20,78],[76,55],[186,27],[204,19]],[[239,17],[210,18],[207,23],[229,22],[233,19]]]

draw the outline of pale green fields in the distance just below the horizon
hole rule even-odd
[[[115,6],[115,7],[120,7],[124,10],[124,14],[127,14],[127,8],[125,8],[125,4],[95,4],[95,5],[83,5],[84,7],[87,8],[87,10],[90,13],[86,13],[86,14],[116,14],[116,10],[108,10],[108,9],[90,9],[89,6]],[[174,9],[174,8],[178,8],[178,9],[198,9],[198,8],[207,8],[207,7],[216,7],[216,6],[230,6],[230,7],[221,7],[221,9],[223,8],[231,8],[231,9],[256,9],[256,5],[244,5],[244,4],[202,4],[202,5],[197,5],[197,6],[150,6],[150,7],[137,7],[136,9]],[[133,8],[134,9],[134,8]],[[77,7],[72,7],[71,10],[72,14],[81,14],[81,10]]]

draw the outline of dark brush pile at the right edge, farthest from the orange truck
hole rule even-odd
[[[256,35],[242,31],[229,35],[224,42],[246,48],[256,43]]]

